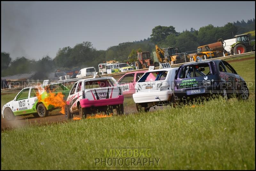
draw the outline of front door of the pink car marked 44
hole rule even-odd
[[[132,74],[125,74],[123,78],[121,78],[118,83],[120,84],[123,94],[132,94],[135,93],[135,78],[134,73]]]

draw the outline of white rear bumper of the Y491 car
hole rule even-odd
[[[140,92],[132,95],[135,103],[170,101],[172,91]]]

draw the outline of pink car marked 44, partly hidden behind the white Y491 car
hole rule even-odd
[[[123,95],[135,93],[135,84],[146,71],[134,71],[124,74],[117,82],[121,86]],[[156,77],[149,74],[146,81],[154,81]]]

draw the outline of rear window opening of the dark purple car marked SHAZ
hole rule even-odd
[[[211,70],[208,63],[184,66],[180,72],[179,78],[193,78],[210,75]]]

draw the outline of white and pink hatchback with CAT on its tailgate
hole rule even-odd
[[[72,119],[75,113],[80,117],[95,112],[124,114],[124,96],[120,85],[113,77],[89,78],[77,81],[69,92],[65,115]]]

